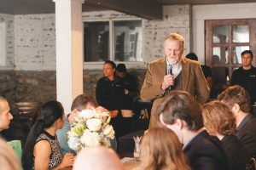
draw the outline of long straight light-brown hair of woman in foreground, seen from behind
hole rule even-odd
[[[143,136],[143,170],[190,170],[177,135],[166,127],[154,127]]]

